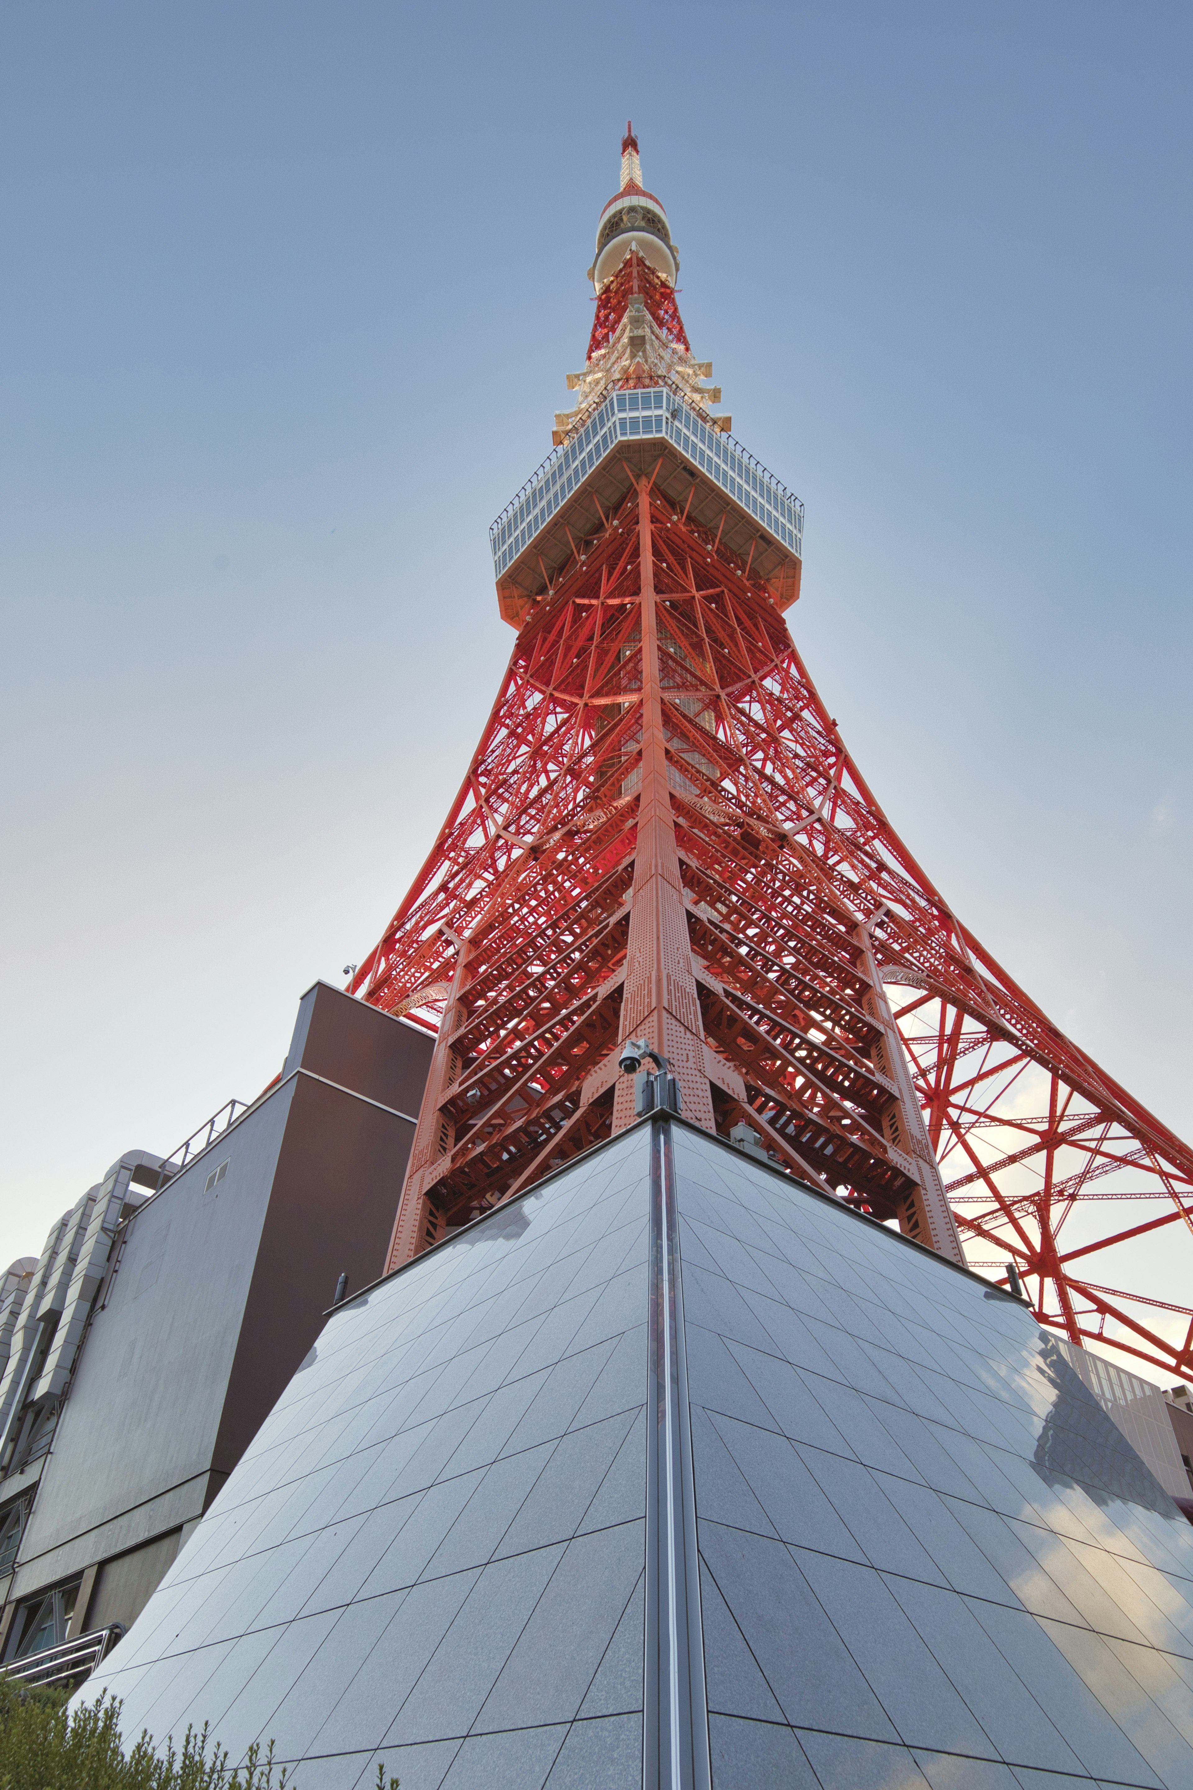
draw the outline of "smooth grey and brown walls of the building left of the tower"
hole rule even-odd
[[[315,983],[283,1079],[129,1221],[41,1464],[9,1607],[93,1568],[77,1627],[148,1595],[141,1581],[168,1564],[159,1539],[191,1525],[233,1471],[322,1328],[336,1276],[361,1287],[383,1273],[431,1049],[420,1029]]]

